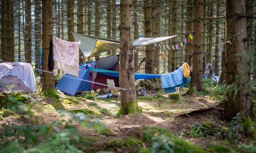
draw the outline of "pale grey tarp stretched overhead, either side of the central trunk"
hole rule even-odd
[[[117,49],[120,42],[117,40],[106,39],[95,36],[88,36],[78,33],[72,33],[76,42],[79,42],[79,48],[84,56],[89,57],[109,50]],[[134,46],[143,46],[164,41],[175,36],[155,37],[155,38],[139,38],[133,41]]]

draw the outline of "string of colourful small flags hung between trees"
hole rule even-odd
[[[180,49],[182,46],[184,46],[186,43],[188,43],[190,40],[193,39],[193,36],[190,34],[187,38],[185,38],[182,42],[176,44],[176,45],[173,45],[173,46],[165,46],[165,45],[161,45],[161,44],[158,44],[158,43],[155,43],[155,46],[158,46],[160,48],[163,48],[166,50],[166,53],[167,53],[167,49],[169,50],[175,50],[175,49]],[[133,53],[136,53],[138,51],[138,46],[136,46],[136,50],[134,50]],[[160,51],[160,54],[162,52]]]

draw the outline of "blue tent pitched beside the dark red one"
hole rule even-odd
[[[88,65],[90,62],[86,62],[86,64]],[[94,67],[95,64],[96,62],[93,62],[92,67]],[[82,80],[90,81],[90,69],[86,69],[84,63],[79,64],[78,79],[74,75],[66,73],[56,85],[56,89],[71,95],[77,94],[78,91],[91,91],[91,83]]]

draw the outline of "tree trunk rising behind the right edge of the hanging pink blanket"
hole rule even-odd
[[[74,0],[68,0],[68,41],[75,41],[74,32]]]

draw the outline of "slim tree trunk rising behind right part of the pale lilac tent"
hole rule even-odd
[[[26,1],[26,7],[25,7],[25,20],[26,20],[26,29],[27,29],[27,63],[32,62],[31,58],[32,58],[32,36],[31,36],[31,0],[27,0]]]

